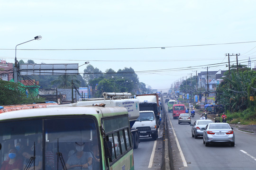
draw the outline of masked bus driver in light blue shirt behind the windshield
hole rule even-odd
[[[92,170],[92,154],[90,152],[84,152],[83,142],[76,142],[74,153],[66,162],[67,169],[82,169],[82,170]]]

